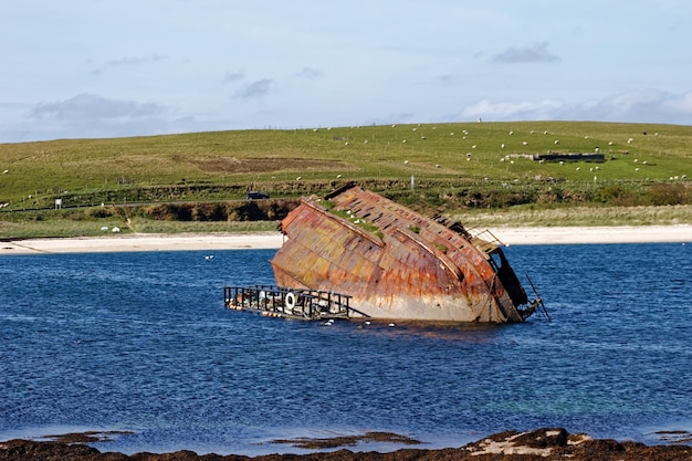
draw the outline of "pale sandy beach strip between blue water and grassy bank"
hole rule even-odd
[[[489,231],[505,245],[692,243],[692,224],[491,228]],[[280,232],[122,234],[77,238],[0,239],[0,255],[279,249],[283,243],[283,239],[284,237]]]

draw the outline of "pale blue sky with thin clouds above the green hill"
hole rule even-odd
[[[0,0],[0,143],[692,125],[689,0]]]

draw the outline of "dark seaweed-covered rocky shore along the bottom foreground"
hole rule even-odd
[[[389,453],[354,452],[339,449],[311,454],[269,454],[261,457],[174,453],[101,452],[83,443],[10,440],[0,442],[0,461],[692,461],[690,440],[683,443],[646,446],[638,442],[594,440],[569,434],[565,429],[533,432],[502,432],[462,448],[442,450],[401,449]]]

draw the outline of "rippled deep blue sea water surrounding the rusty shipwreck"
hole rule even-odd
[[[366,431],[420,448],[547,426],[647,443],[692,431],[692,244],[506,253],[552,322],[323,326],[226,310],[224,285],[273,283],[272,250],[0,258],[0,440],[124,430],[93,446],[260,454]]]

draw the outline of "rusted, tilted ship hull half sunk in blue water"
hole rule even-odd
[[[506,323],[535,308],[499,245],[354,185],[304,198],[281,228],[279,285],[348,294],[371,317]]]

